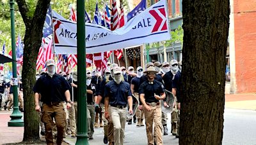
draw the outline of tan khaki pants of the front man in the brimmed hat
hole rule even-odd
[[[154,144],[153,137],[153,122],[154,122],[154,133],[156,135],[156,143],[157,145],[163,144],[163,125],[161,123],[161,105],[150,106],[151,111],[147,111],[144,107],[145,113],[145,122],[146,122],[146,130],[147,130],[147,138],[148,144]]]

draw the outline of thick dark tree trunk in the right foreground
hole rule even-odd
[[[182,1],[179,144],[221,144],[229,1]]]

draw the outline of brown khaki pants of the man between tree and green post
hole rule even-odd
[[[47,144],[53,145],[52,128],[54,126],[53,119],[56,121],[56,127],[58,130],[57,141],[59,145],[63,142],[63,134],[65,133],[66,126],[66,113],[62,103],[42,106],[42,122],[45,125],[45,140]]]

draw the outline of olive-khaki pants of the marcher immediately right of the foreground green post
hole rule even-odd
[[[94,118],[95,118],[95,107],[94,105],[87,104],[87,116],[90,116],[88,118],[88,135],[89,137],[92,137],[94,133]]]

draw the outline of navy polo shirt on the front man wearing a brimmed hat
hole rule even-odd
[[[144,81],[139,88],[139,94],[144,93],[145,94],[145,102],[151,103],[151,102],[159,102],[159,100],[156,99],[156,95],[161,95],[161,93],[164,93],[164,85],[154,79],[153,84],[149,83],[149,81]]]

